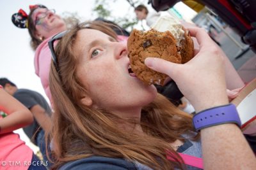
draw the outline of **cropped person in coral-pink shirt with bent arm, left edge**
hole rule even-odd
[[[31,124],[33,115],[19,101],[5,92],[1,85],[0,111],[7,114],[4,118],[0,116],[1,169],[46,169],[33,150],[20,140],[19,134],[13,133]]]

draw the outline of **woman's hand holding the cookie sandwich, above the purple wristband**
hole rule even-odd
[[[223,52],[204,29],[191,27],[188,30],[199,44],[193,59],[186,64],[175,64],[163,59],[147,58],[145,64],[170,76],[196,111],[228,104]]]

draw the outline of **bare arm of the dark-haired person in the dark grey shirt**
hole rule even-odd
[[[32,106],[29,109],[36,119],[36,122],[44,129],[45,132],[49,132],[51,129],[51,117],[39,104]]]

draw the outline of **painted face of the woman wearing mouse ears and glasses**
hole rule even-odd
[[[61,17],[47,8],[37,8],[33,11],[32,19],[38,38],[49,38],[66,30],[65,22]]]

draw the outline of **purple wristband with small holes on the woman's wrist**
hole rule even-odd
[[[193,117],[193,125],[196,131],[214,125],[235,123],[241,127],[241,120],[234,104],[227,104],[196,113]]]

